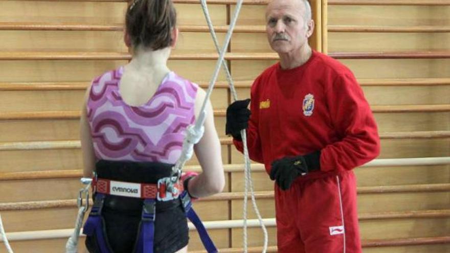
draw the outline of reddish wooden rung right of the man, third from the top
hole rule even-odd
[[[335,59],[446,59],[450,51],[328,53]]]

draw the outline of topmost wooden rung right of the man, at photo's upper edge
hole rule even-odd
[[[328,5],[450,5],[450,0],[328,0]]]

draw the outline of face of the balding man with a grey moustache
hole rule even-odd
[[[277,53],[299,50],[312,33],[313,24],[308,29],[305,6],[301,0],[274,0],[266,10],[267,39]],[[311,21],[312,23],[312,21]]]

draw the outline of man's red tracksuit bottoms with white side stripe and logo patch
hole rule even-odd
[[[275,183],[278,252],[360,253],[353,171],[299,178],[281,190]]]

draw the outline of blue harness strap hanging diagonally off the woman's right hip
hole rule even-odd
[[[186,217],[194,224],[195,228],[197,229],[198,235],[200,236],[200,240],[203,243],[203,246],[205,247],[206,251],[208,253],[216,253],[218,252],[216,246],[214,245],[213,241],[211,240],[211,237],[209,237],[208,232],[206,231],[205,226],[201,222],[198,215],[195,213],[195,211],[192,209],[192,201],[191,197],[189,196],[187,191],[184,191],[181,195],[181,200],[183,202],[183,206],[186,212]]]

